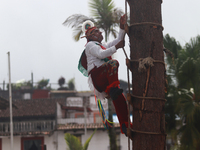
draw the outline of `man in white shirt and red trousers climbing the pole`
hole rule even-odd
[[[79,70],[88,75],[89,87],[95,92],[98,99],[110,97],[115,106],[116,114],[121,127],[121,132],[127,134],[128,111],[123,90],[119,87],[117,60],[112,55],[119,48],[123,48],[125,15],[120,18],[118,37],[110,43],[102,43],[103,36],[91,21],[83,23],[87,44],[79,62]]]

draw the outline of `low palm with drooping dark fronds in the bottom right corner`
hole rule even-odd
[[[177,132],[180,135],[180,150],[195,150],[200,141],[200,105],[194,99],[192,91],[181,89],[179,94],[178,107],[183,120]]]

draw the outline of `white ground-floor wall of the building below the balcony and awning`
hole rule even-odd
[[[87,135],[82,135],[82,145],[93,133],[92,130],[87,131]],[[55,131],[53,135],[44,136],[44,144],[47,150],[66,150],[67,144],[64,139],[65,133],[63,131]],[[30,137],[30,136],[29,136]],[[2,150],[10,150],[10,138],[2,138]],[[14,150],[21,150],[21,136],[14,136]],[[120,134],[121,150],[128,150],[128,138],[124,134]],[[130,146],[131,146],[130,142]],[[109,137],[107,131],[97,130],[92,137],[88,150],[109,150]],[[132,149],[132,146],[131,146]]]

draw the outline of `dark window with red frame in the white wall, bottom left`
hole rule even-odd
[[[21,150],[44,150],[44,137],[22,137]]]

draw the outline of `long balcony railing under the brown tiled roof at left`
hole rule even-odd
[[[33,132],[54,130],[55,121],[23,121],[13,122],[13,132]],[[10,123],[0,123],[0,133],[10,132]]]

